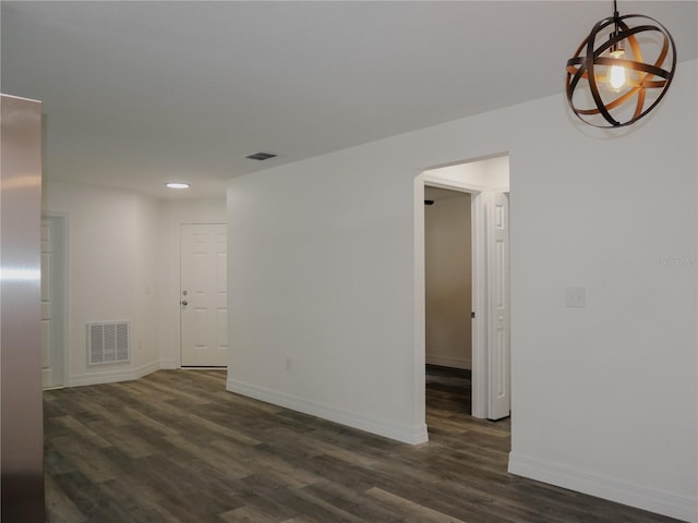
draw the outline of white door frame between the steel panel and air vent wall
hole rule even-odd
[[[53,282],[60,282],[60,291],[59,300],[57,301],[57,309],[60,311],[59,318],[57,318],[60,323],[60,343],[61,351],[60,356],[62,358],[62,369],[61,369],[61,385],[55,388],[63,388],[70,386],[70,351],[69,351],[69,332],[68,332],[68,304],[69,304],[69,290],[70,290],[70,270],[68,267],[69,256],[68,250],[70,245],[70,235],[69,235],[69,220],[70,216],[68,212],[41,212],[41,220],[47,219],[53,222],[53,226],[58,226],[58,240],[53,246],[58,245],[58,253],[55,251],[55,262],[58,262],[58,267],[53,264],[55,270],[57,272],[58,278],[52,278]],[[52,292],[56,294],[56,288],[52,289]]]

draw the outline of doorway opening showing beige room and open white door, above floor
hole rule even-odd
[[[510,414],[508,181],[508,156],[421,174],[424,361],[470,372],[464,402],[490,419]]]

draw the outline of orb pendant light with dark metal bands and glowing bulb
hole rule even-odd
[[[597,127],[630,125],[645,117],[666,94],[676,66],[674,39],[662,24],[641,14],[621,16],[616,0],[613,11],[567,61],[569,107]]]

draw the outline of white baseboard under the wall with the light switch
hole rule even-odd
[[[509,472],[677,520],[698,523],[698,497],[684,497],[509,453]]]

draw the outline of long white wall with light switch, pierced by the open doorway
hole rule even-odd
[[[510,470],[698,521],[696,76],[617,138],[561,95],[231,180],[228,388],[423,439],[414,178],[508,151]]]

